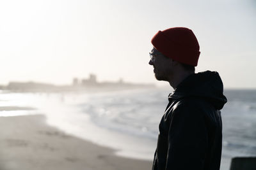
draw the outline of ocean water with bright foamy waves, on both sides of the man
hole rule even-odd
[[[0,117],[42,114],[47,124],[117,155],[153,160],[158,125],[172,89],[111,92],[13,93],[1,91]],[[221,110],[221,170],[232,157],[256,156],[256,90],[225,90]]]

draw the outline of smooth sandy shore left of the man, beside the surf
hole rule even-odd
[[[50,127],[43,115],[0,117],[0,125],[0,170],[143,170],[152,167],[150,161],[117,157],[111,148]]]

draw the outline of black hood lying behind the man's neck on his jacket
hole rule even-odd
[[[201,97],[221,110],[227,98],[223,95],[223,83],[216,71],[204,71],[189,75],[169,95],[169,100],[184,97]]]

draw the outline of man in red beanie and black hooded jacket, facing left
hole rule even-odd
[[[151,42],[149,64],[156,79],[174,89],[159,124],[152,169],[220,169],[220,110],[227,98],[219,74],[195,73],[199,45],[188,28],[159,31]]]

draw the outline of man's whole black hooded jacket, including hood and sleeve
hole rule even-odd
[[[220,169],[220,110],[227,98],[219,74],[191,74],[168,99],[152,169]]]

